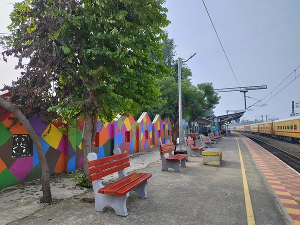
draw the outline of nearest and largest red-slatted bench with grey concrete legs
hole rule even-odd
[[[146,185],[152,174],[133,172],[127,175],[124,168],[130,166],[128,152],[121,153],[119,148],[115,148],[113,153],[114,155],[99,159],[94,152],[87,155],[89,179],[92,181],[95,197],[95,210],[102,212],[109,206],[117,215],[126,216],[128,214],[126,200],[129,191],[134,190],[138,197],[146,198]],[[101,178],[114,172],[118,172],[119,179],[104,186]]]

